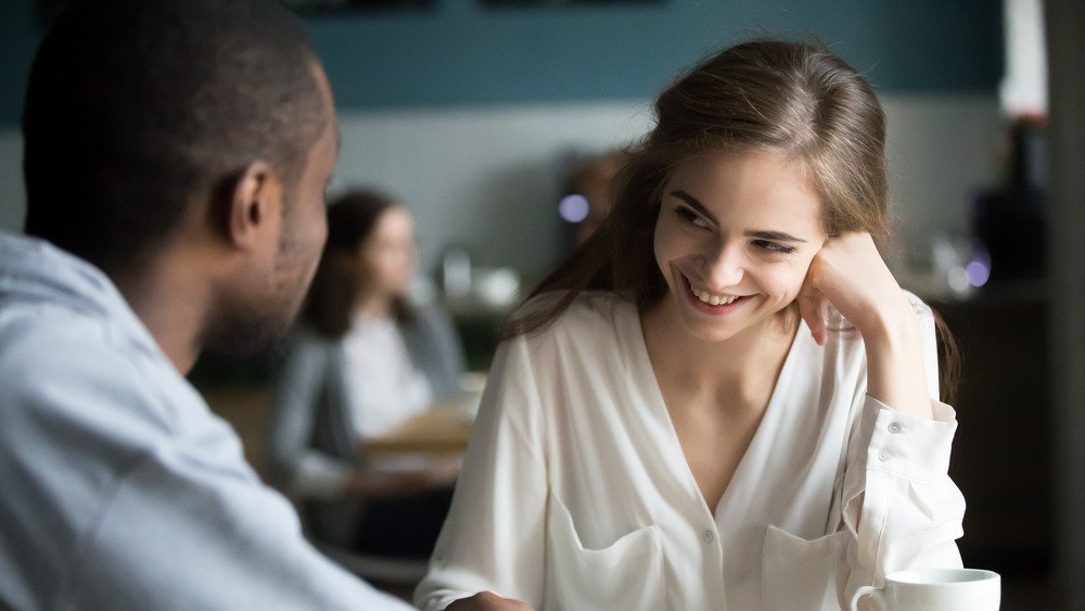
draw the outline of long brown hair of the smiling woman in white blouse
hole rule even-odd
[[[817,42],[753,40],[705,60],[655,103],[655,127],[627,152],[603,225],[548,275],[502,339],[552,323],[586,290],[638,308],[666,293],[653,234],[672,170],[701,155],[771,150],[802,168],[822,205],[826,232],[867,231],[882,243],[886,213],[885,117],[867,81]],[[959,351],[935,314],[944,399],[954,397]]]

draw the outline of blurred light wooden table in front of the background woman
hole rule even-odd
[[[468,448],[469,411],[462,403],[441,403],[361,446],[369,457],[398,454],[455,455]]]

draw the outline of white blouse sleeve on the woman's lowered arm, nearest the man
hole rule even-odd
[[[529,354],[523,336],[497,351],[448,518],[414,593],[423,611],[484,590],[541,606],[547,475]]]

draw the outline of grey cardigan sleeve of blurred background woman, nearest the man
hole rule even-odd
[[[309,447],[323,380],[327,347],[299,336],[280,374],[271,407],[267,455],[272,479],[296,498],[337,498],[354,466]]]

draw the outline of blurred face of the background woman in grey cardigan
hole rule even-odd
[[[361,282],[370,295],[400,296],[414,275],[414,222],[410,213],[391,207],[381,214],[359,249]]]

